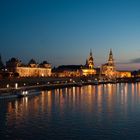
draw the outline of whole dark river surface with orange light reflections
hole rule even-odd
[[[0,140],[140,140],[140,83],[0,100]]]

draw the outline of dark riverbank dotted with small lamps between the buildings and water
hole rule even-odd
[[[65,77],[65,78],[15,78],[0,80],[0,96],[14,95],[17,92],[25,90],[52,90],[57,88],[83,86],[83,85],[98,85],[108,83],[132,83],[139,82],[137,78],[121,78],[115,81],[98,81],[93,77]]]

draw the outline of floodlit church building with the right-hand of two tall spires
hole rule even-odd
[[[105,76],[105,78],[115,78],[116,77],[116,67],[114,64],[113,53],[110,49],[108,62],[101,66],[101,74]]]

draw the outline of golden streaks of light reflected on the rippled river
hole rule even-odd
[[[36,118],[44,112],[50,119],[54,111],[61,117],[67,111],[82,112],[84,115],[105,112],[111,117],[116,109],[125,115],[128,109],[134,109],[135,104],[140,104],[140,83],[88,85],[42,91],[38,96],[8,101],[6,118],[9,125],[16,120],[20,126],[29,117]]]

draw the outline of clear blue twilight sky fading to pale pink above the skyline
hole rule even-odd
[[[85,64],[92,49],[95,66],[110,48],[117,69],[140,69],[139,0],[1,0],[0,53],[27,63]]]

